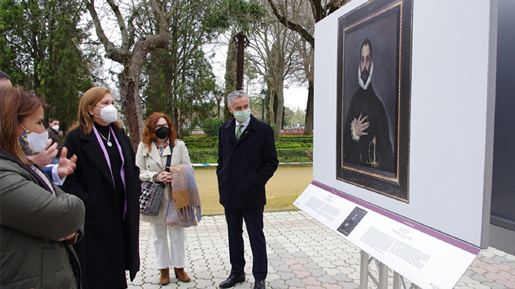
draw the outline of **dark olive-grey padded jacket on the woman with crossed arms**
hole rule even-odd
[[[55,240],[83,235],[84,203],[18,159],[0,155],[0,288],[80,288],[72,245]]]

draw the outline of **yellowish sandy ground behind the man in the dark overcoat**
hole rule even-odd
[[[195,167],[195,178],[202,202],[202,215],[224,213],[218,199],[216,168]],[[279,165],[273,177],[266,183],[265,211],[297,210],[293,201],[313,181],[311,165]]]

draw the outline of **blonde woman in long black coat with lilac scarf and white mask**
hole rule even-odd
[[[66,137],[77,155],[64,190],[86,205],[86,235],[75,246],[83,287],[127,288],[139,270],[139,169],[133,147],[117,122],[108,88],[90,88],[79,102],[79,122]]]

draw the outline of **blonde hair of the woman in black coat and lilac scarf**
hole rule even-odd
[[[77,112],[77,119],[79,119],[79,122],[72,126],[72,130],[82,126],[82,128],[84,128],[84,134],[91,133],[93,130],[94,116],[88,112],[88,106],[95,106],[95,104],[97,104],[97,102],[99,102],[106,94],[111,94],[109,88],[101,88],[98,86],[90,88],[88,91],[84,92],[84,95],[82,95],[81,100],[79,101],[79,112]],[[118,121],[115,121],[113,124],[117,128],[122,128],[122,125]]]

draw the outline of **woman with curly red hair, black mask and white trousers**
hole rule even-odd
[[[139,178],[142,181],[157,181],[165,184],[164,195],[157,216],[141,215],[142,221],[152,226],[157,268],[161,272],[159,283],[170,283],[169,270],[173,267],[175,277],[188,282],[190,277],[184,272],[184,228],[182,226],[164,225],[169,198],[172,175],[166,170],[166,161],[171,157],[170,166],[179,164],[191,165],[188,149],[184,141],[176,139],[173,122],[166,115],[154,112],[146,120],[142,142],[136,153],[136,165],[139,167]],[[169,210],[170,213],[177,212]],[[168,247],[168,237],[170,246]]]

